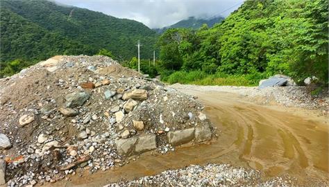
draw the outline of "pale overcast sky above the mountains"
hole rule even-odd
[[[71,6],[135,19],[150,28],[161,28],[190,16],[228,16],[244,0],[55,0]]]

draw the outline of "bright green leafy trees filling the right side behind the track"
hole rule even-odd
[[[221,24],[171,28],[158,43],[167,69],[163,74],[203,71],[187,82],[209,74],[208,84],[216,78],[259,80],[283,73],[298,83],[315,75],[323,84],[328,82],[328,1],[248,0]],[[169,82],[191,76],[174,73]]]

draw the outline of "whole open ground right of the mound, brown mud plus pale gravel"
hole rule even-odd
[[[301,101],[288,87],[170,87],[199,98],[218,139],[165,155],[141,154],[126,166],[56,186],[329,185],[328,96]]]

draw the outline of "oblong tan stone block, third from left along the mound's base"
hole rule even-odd
[[[194,139],[194,128],[192,127],[185,130],[168,132],[167,138],[171,145],[181,145],[188,143]]]

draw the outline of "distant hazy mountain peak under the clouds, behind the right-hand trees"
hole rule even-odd
[[[154,30],[157,33],[164,33],[169,28],[201,28],[203,24],[207,24],[208,27],[214,26],[214,24],[220,23],[223,21],[224,17],[210,17],[208,19],[189,17],[188,19],[184,19],[182,21],[178,21],[176,24],[171,26],[166,26],[164,28],[155,28]]]

